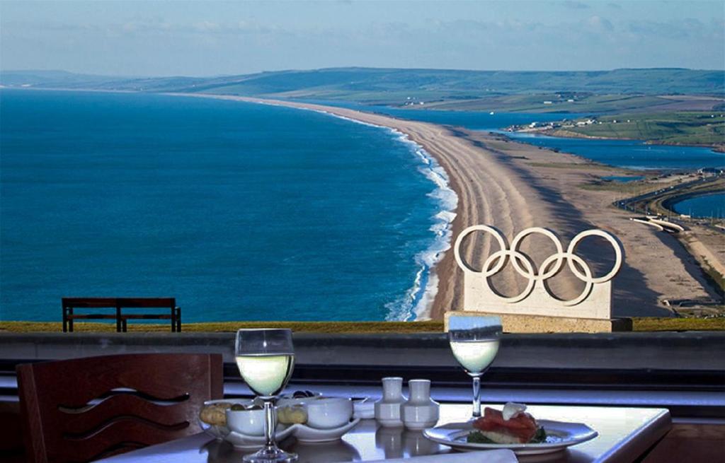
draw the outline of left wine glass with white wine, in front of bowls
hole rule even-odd
[[[265,404],[265,446],[244,456],[249,463],[295,462],[296,454],[277,447],[277,417],[274,403],[294,369],[292,331],[287,329],[248,329],[236,332],[236,366],[241,378]]]

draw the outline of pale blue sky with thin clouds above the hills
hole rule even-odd
[[[0,0],[0,69],[724,69],[724,30],[722,0]]]

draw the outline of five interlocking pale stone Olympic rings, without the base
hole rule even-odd
[[[476,231],[482,231],[484,233],[491,234],[500,247],[500,250],[493,252],[491,255],[489,255],[488,258],[486,258],[486,260],[484,261],[484,266],[483,268],[481,268],[481,271],[477,271],[471,268],[471,266],[469,266],[468,263],[466,263],[460,255],[460,245],[461,243],[463,243],[463,239],[465,239],[465,237],[467,237],[469,234],[472,234]],[[556,247],[555,254],[552,254],[548,258],[546,258],[542,262],[541,266],[539,266],[539,268],[535,268],[534,262],[531,260],[531,258],[529,258],[528,255],[518,250],[518,247],[521,245],[523,239],[528,237],[530,234],[542,234],[544,235],[544,237],[549,238]],[[587,265],[587,262],[579,255],[576,255],[576,247],[579,246],[579,244],[581,244],[581,240],[586,237],[602,237],[606,239],[614,249],[614,266],[604,276],[593,276],[592,270],[589,268],[589,265]],[[550,229],[544,229],[538,226],[519,232],[514,237],[510,247],[508,246],[506,238],[503,236],[502,232],[494,226],[469,226],[458,235],[455,241],[454,252],[455,260],[458,263],[458,266],[463,269],[463,271],[468,273],[479,273],[480,276],[482,276],[486,281],[486,285],[488,285],[488,288],[494,294],[497,294],[497,296],[500,297],[503,301],[509,303],[520,302],[521,300],[526,299],[526,297],[531,294],[531,291],[533,291],[534,286],[537,284],[537,282],[540,282],[540,284],[542,284],[544,291],[546,291],[550,297],[558,300],[558,298],[549,291],[544,282],[547,279],[550,279],[553,276],[557,275],[563,269],[564,261],[566,260],[566,263],[568,264],[568,267],[574,274],[574,276],[576,276],[577,279],[584,281],[584,290],[581,292],[581,294],[579,294],[579,296],[571,300],[560,301],[563,303],[563,305],[566,306],[572,306],[581,303],[582,301],[587,299],[589,294],[592,292],[592,288],[595,284],[605,283],[606,281],[610,281],[611,279],[613,279],[621,268],[622,260],[624,258],[624,251],[621,242],[619,242],[619,240],[614,237],[613,234],[610,234],[606,231],[599,229],[581,231],[581,233],[577,234],[576,237],[571,240],[568,248],[566,249],[566,252],[564,252],[563,245],[561,244],[559,237],[557,237],[557,235]],[[489,281],[489,277],[494,276],[496,273],[499,273],[509,260],[511,260],[511,263],[513,264],[513,268],[516,273],[528,279],[526,288],[523,290],[523,292],[513,297],[505,297],[498,294],[494,291]]]

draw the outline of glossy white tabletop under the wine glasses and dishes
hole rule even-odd
[[[501,408],[500,404],[493,407]],[[662,438],[671,427],[667,409],[623,407],[529,407],[534,417],[547,420],[584,422],[599,436],[542,459],[519,457],[522,463],[632,462]],[[439,425],[465,421],[471,404],[442,404]],[[285,450],[299,454],[299,462],[350,462],[392,459],[402,456],[444,454],[447,446],[428,441],[421,431],[380,428],[375,420],[362,420],[341,441],[324,444],[297,443],[288,438]],[[239,463],[241,451],[229,443],[215,441],[204,433],[101,460],[108,463]]]

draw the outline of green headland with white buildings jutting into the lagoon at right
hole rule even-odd
[[[565,127],[554,135],[585,135],[651,143],[725,145],[725,112],[697,111],[602,116],[601,124]]]

